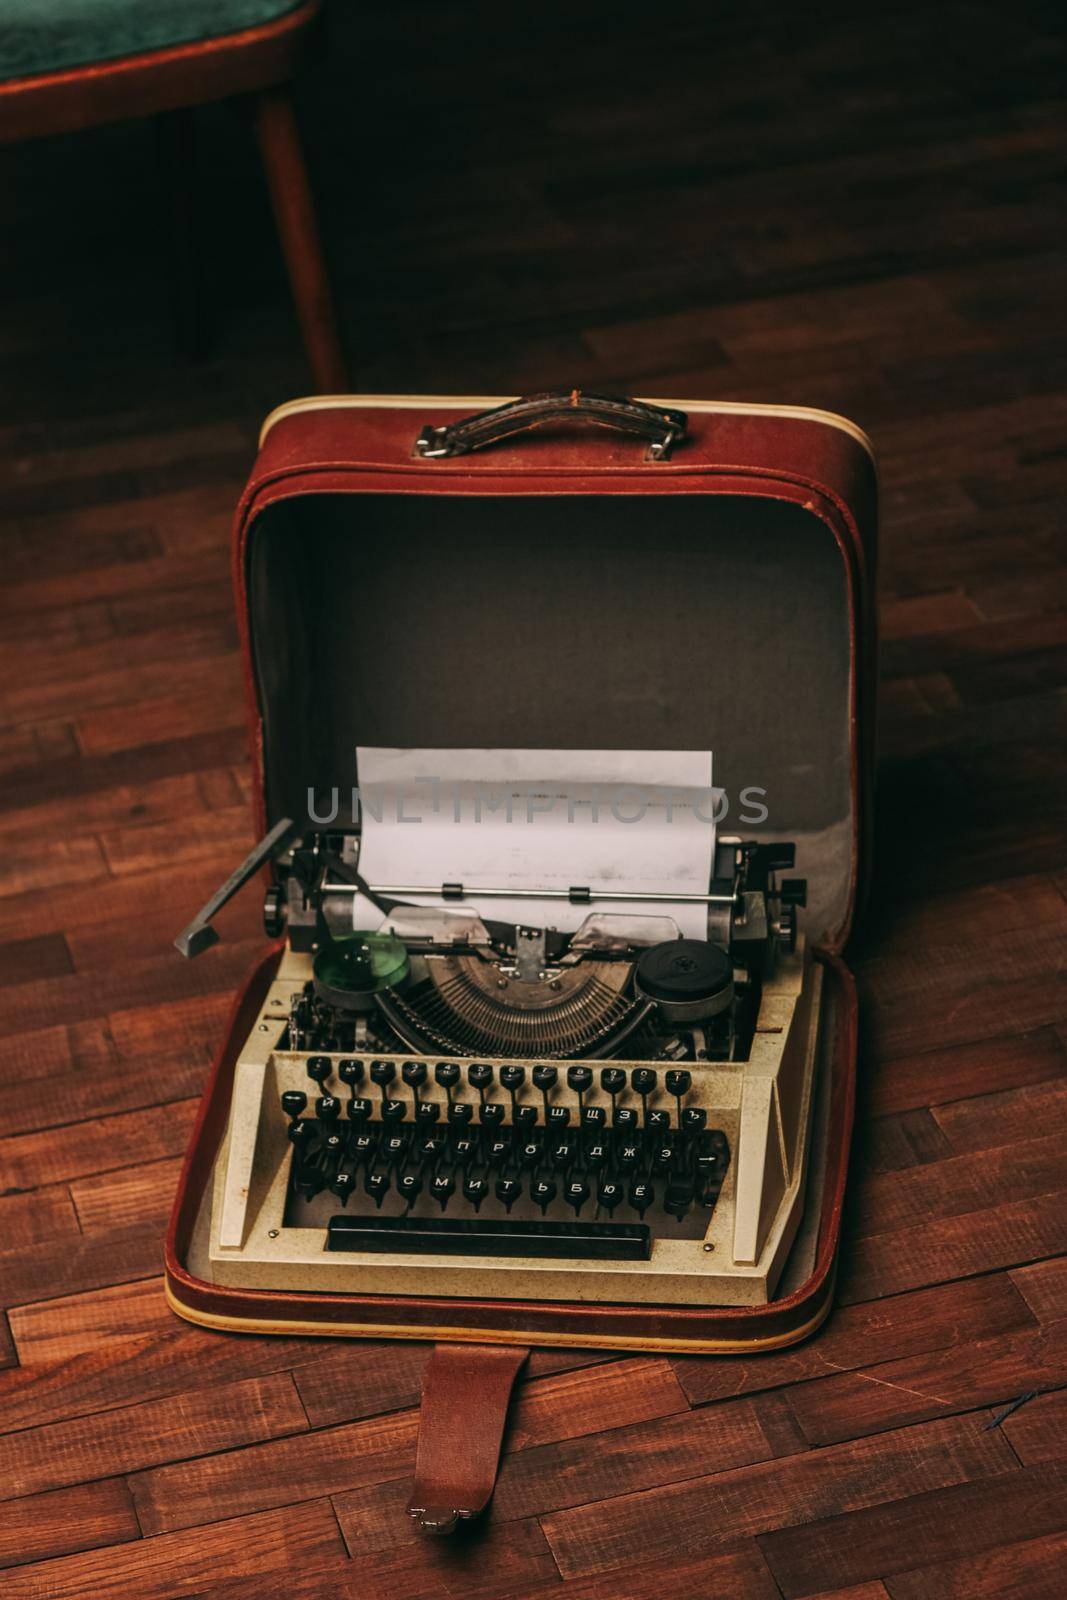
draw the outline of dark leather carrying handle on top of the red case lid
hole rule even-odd
[[[427,422],[414,448],[427,459],[466,456],[470,450],[482,450],[483,445],[493,445],[499,438],[568,416],[646,438],[651,461],[665,461],[672,448],[685,438],[689,422],[685,411],[672,411],[669,406],[646,405],[643,400],[625,400],[619,395],[590,395],[582,389],[555,389],[550,394],[509,400],[507,405],[493,406],[491,411],[477,411],[462,422],[448,422],[443,427]]]

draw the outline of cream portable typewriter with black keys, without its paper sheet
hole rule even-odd
[[[406,902],[411,885],[362,875],[358,832],[294,835],[277,827],[216,896],[272,854],[266,918],[286,936],[214,1166],[218,1283],[774,1294],[803,1210],[822,982],[797,928],[805,885],[777,875],[790,845],[717,838],[705,893],[677,896],[683,936],[669,896],[635,910],[625,883],[571,888],[569,933],[534,891],[526,922],[488,915],[491,886]],[[357,899],[376,926],[354,925]]]

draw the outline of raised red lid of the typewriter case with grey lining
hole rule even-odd
[[[869,843],[869,442],[822,411],[648,402],[688,413],[656,459],[573,392],[536,432],[419,454],[502,403],[267,419],[234,542],[261,822],[307,818],[309,790],[347,813],[357,746],[710,749],[721,832],[795,840],[806,926],[840,947]]]

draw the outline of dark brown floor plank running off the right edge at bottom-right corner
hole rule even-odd
[[[1025,1467],[763,1533],[760,1549],[785,1600],[872,1576],[893,1595],[897,1573],[1062,1533],[1064,1490],[1062,1467]]]

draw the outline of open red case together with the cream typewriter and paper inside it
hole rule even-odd
[[[259,872],[269,944],[171,1219],[181,1315],[472,1362],[817,1326],[875,494],[862,434],[793,408],[267,421],[234,536],[264,838],[178,942]]]

